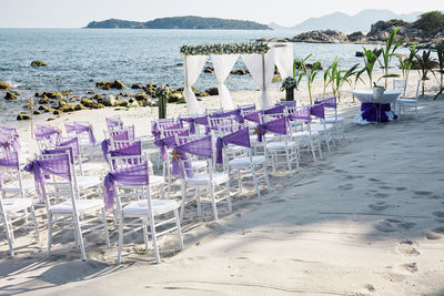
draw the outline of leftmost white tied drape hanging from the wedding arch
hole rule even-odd
[[[198,81],[200,74],[202,73],[202,69],[206,63],[208,55],[184,55],[183,59],[183,67],[185,69],[185,89],[183,90],[183,96],[186,100],[186,112],[188,114],[198,114],[198,99],[195,99],[191,86]]]

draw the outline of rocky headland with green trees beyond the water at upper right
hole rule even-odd
[[[405,23],[396,21],[379,21],[372,24],[369,33],[364,34],[361,31],[346,34],[337,30],[314,30],[303,32],[292,38],[261,38],[261,42],[305,42],[305,43],[353,43],[353,44],[382,44],[385,42],[390,33],[396,28],[397,38],[404,40],[405,45],[413,43],[422,48],[435,49],[438,45],[444,45],[444,30],[436,34],[426,34],[421,29],[415,29]]]

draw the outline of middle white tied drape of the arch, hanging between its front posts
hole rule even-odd
[[[218,79],[219,101],[224,110],[233,110],[234,104],[231,99],[229,88],[223,83],[238,61],[239,54],[212,54],[211,61],[214,67],[214,74]]]

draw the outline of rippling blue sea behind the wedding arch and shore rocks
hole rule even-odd
[[[16,102],[1,100],[0,121],[14,120],[24,101],[37,91],[71,90],[83,95],[98,81],[119,79],[127,85],[152,81],[183,86],[182,44],[249,42],[262,37],[292,37],[291,31],[244,30],[123,30],[123,29],[0,29],[0,81],[22,95]],[[371,47],[371,45],[370,45]],[[331,63],[341,58],[341,67],[362,63],[355,58],[359,44],[294,43],[294,55]],[[47,68],[31,68],[42,60]],[[244,68],[241,61],[235,65]],[[321,76],[321,75],[320,75]],[[216,84],[214,74],[202,73],[195,86],[204,90]],[[250,75],[231,75],[231,90],[256,86]],[[0,98],[4,96],[3,92]],[[14,112],[9,112],[13,110]],[[8,112],[4,112],[8,111]]]

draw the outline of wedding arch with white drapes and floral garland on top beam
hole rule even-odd
[[[214,74],[218,79],[220,105],[225,110],[234,109],[230,91],[224,84],[224,81],[229,76],[239,57],[242,57],[255,84],[261,89],[259,104],[262,109],[269,106],[266,89],[273,79],[274,67],[278,67],[283,79],[293,73],[292,43],[269,44],[252,42],[183,45],[180,52],[184,59],[185,88],[183,96],[186,100],[186,111],[189,114],[199,113],[198,99],[191,86],[198,81],[209,58],[211,58],[213,62]]]

